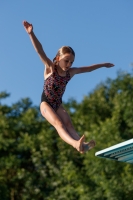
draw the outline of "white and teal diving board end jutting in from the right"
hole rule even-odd
[[[95,156],[120,162],[133,163],[133,139],[98,151],[95,153]]]

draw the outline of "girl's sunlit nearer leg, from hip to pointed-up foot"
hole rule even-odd
[[[49,106],[48,103],[42,102],[40,105],[41,114],[43,117],[57,130],[60,137],[68,144],[76,148],[78,151],[82,152],[82,146],[84,142],[84,136],[78,141],[73,139],[66,127],[64,126],[60,116]]]

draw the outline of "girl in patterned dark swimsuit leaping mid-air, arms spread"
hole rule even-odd
[[[32,24],[23,22],[31,42],[45,65],[44,88],[41,96],[40,111],[42,116],[57,130],[59,136],[69,145],[84,153],[95,146],[95,141],[84,142],[84,135],[80,137],[74,129],[71,119],[62,105],[62,96],[67,83],[80,73],[91,72],[101,67],[113,67],[112,63],[95,64],[86,67],[71,68],[75,52],[69,46],[61,47],[53,61],[45,54],[41,43],[33,32]]]

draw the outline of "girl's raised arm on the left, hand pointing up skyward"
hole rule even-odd
[[[36,50],[36,52],[39,54],[42,62],[46,65],[46,67],[52,66],[52,61],[46,56],[43,47],[37,37],[35,36],[33,32],[33,25],[28,23],[27,21],[23,21],[24,28],[26,32],[29,34],[29,37],[31,39],[31,42]]]

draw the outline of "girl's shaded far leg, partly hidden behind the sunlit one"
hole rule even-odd
[[[71,135],[71,137],[75,140],[79,140],[80,136],[78,135],[78,133],[74,129],[72,122],[71,122],[71,119],[70,119],[67,111],[63,108],[62,105],[57,110],[57,114],[62,119],[62,122],[65,125],[65,127],[66,127],[68,133]],[[90,150],[94,146],[95,146],[94,140],[91,140],[90,142],[87,142],[87,143],[83,143],[84,151]]]

